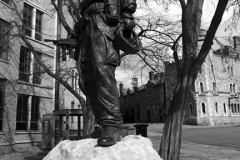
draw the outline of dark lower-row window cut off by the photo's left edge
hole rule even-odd
[[[0,79],[0,131],[3,129],[5,81]]]

